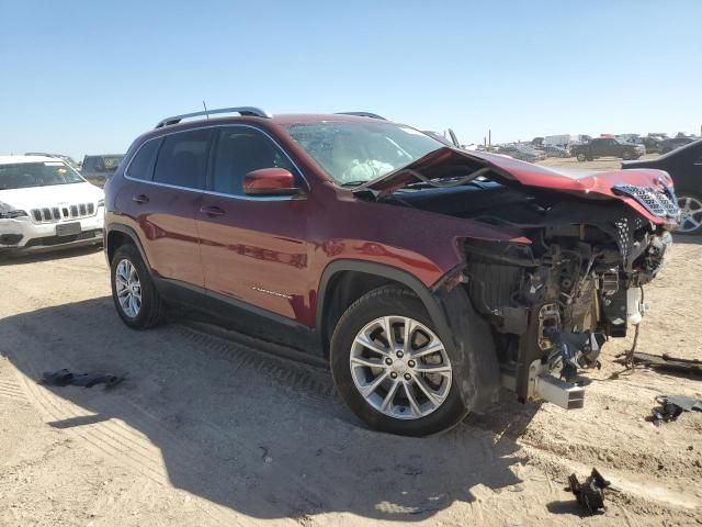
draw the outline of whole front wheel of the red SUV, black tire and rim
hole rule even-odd
[[[330,359],[343,402],[375,430],[426,436],[468,413],[454,379],[463,361],[406,289],[380,288],[354,302],[333,332]]]

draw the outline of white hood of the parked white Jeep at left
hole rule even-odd
[[[0,190],[0,208],[30,211],[60,203],[97,203],[104,199],[102,189],[84,183],[52,184],[29,189]]]

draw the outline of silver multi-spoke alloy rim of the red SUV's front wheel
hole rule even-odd
[[[397,419],[431,414],[451,390],[453,370],[443,343],[407,316],[366,324],[353,340],[349,366],[366,403]]]

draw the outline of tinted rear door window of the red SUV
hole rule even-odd
[[[205,188],[210,130],[166,136],[158,153],[154,181],[189,189]]]

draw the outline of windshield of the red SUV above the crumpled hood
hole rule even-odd
[[[371,181],[444,145],[390,123],[293,124],[288,133],[339,184]]]

